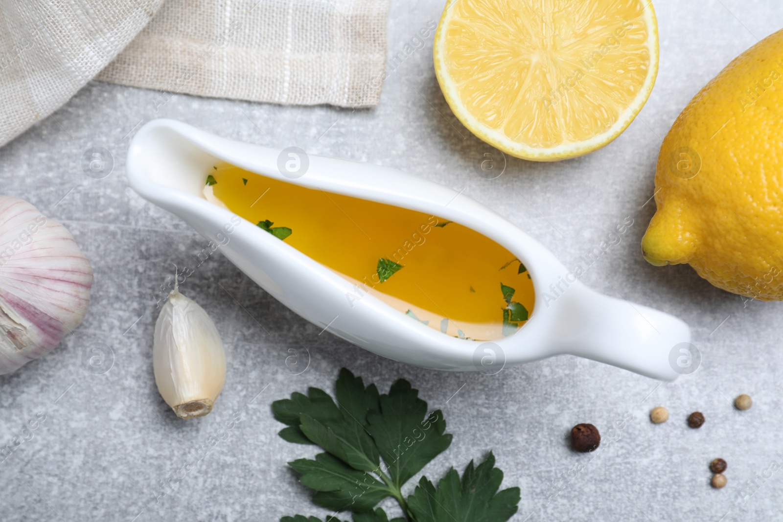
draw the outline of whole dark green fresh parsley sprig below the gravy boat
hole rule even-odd
[[[443,412],[427,414],[427,403],[407,380],[388,394],[365,387],[361,377],[341,369],[336,401],[323,390],[294,392],[272,403],[275,419],[287,424],[280,437],[318,445],[316,459],[289,465],[315,490],[313,502],[334,511],[352,511],[354,522],[505,522],[517,511],[519,488],[498,492],[503,472],[492,452],[478,466],[467,465],[460,478],[453,468],[437,487],[422,477],[412,495],[402,488],[452,441]],[[378,502],[395,499],[405,517],[388,519]],[[281,522],[320,522],[316,517],[283,517]],[[326,522],[340,522],[327,517]]]

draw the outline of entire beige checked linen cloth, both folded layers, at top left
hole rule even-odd
[[[0,0],[0,146],[92,78],[161,105],[377,105],[387,14],[388,0]]]

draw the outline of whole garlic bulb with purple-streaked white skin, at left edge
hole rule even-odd
[[[48,354],[85,319],[92,267],[31,203],[0,196],[0,375]]]

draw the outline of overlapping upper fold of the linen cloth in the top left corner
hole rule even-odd
[[[162,0],[0,0],[0,146],[106,67]]]

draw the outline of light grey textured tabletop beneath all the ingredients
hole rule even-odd
[[[441,7],[432,0],[393,2],[389,55],[402,50],[429,20],[438,20]],[[272,419],[269,403],[308,386],[331,391],[344,365],[382,391],[406,377],[431,407],[443,409],[454,440],[426,468],[429,477],[442,476],[449,466],[461,470],[469,459],[493,449],[505,472],[503,485],[521,488],[513,520],[783,520],[778,500],[783,473],[765,473],[773,460],[783,463],[778,453],[783,452],[781,304],[743,304],[687,266],[648,265],[639,248],[655,211],[654,203],[645,202],[653,193],[662,137],[706,81],[758,38],[783,27],[783,5],[659,0],[655,8],[660,72],[630,128],[577,160],[534,164],[509,158],[504,174],[491,181],[474,172],[489,147],[456,120],[438,89],[431,38],[389,71],[374,110],[175,95],[156,112],[153,92],[92,83],[0,149],[2,193],[26,198],[63,221],[95,268],[85,322],[50,355],[0,377],[0,444],[20,434],[39,412],[45,415],[34,437],[0,462],[0,520],[323,517],[325,510],[312,505],[286,466],[314,450],[277,437],[282,426]],[[232,139],[398,167],[464,188],[539,239],[565,265],[630,216],[630,231],[583,281],[679,315],[693,328],[702,367],[676,383],[570,356],[507,368],[496,376],[418,369],[330,333],[319,335],[319,328],[216,254],[182,290],[215,319],[226,342],[228,379],[215,412],[181,421],[153,381],[154,296],[171,276],[171,263],[193,264],[191,256],[207,242],[127,188],[128,142],[139,122],[155,117]],[[88,178],[82,171],[82,153],[91,146],[112,153],[114,171],[107,178]],[[309,349],[309,369],[293,376],[285,363],[287,349],[300,345]],[[97,346],[113,353],[111,368],[101,375],[88,363],[89,350]],[[740,393],[755,401],[744,414],[731,406]],[[668,406],[668,423],[649,422],[655,405]],[[685,424],[694,410],[707,419],[700,430]],[[218,432],[235,415],[241,422]],[[626,416],[630,422],[609,433],[612,423]],[[604,444],[593,455],[575,454],[566,444],[568,430],[580,422],[604,432]],[[194,463],[193,450],[218,433],[224,440],[183,477],[182,466]],[[729,482],[716,491],[709,487],[707,465],[719,456],[729,463]],[[743,499],[743,484],[756,473],[766,478],[757,478],[759,487]],[[174,491],[156,501],[163,481],[175,484]]]

